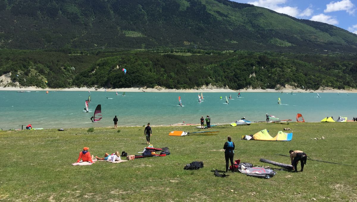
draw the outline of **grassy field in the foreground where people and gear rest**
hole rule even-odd
[[[290,127],[291,142],[241,140],[261,129]],[[169,136],[172,130],[197,131],[193,126],[152,127],[154,147],[169,147],[171,155],[112,164],[96,162],[72,166],[84,146],[103,156],[116,150],[137,154],[146,146],[143,127],[116,129],[0,131],[0,201],[356,201],[357,173],[352,166],[307,161],[304,172],[277,171],[270,179],[229,173],[220,178],[212,170],[225,170],[223,144],[227,135],[236,145],[235,158],[268,165],[260,158],[290,164],[290,149],[310,157],[357,165],[355,123],[251,124],[217,126],[218,135]],[[333,130],[335,129],[335,130]],[[311,138],[326,139],[313,140]],[[204,168],[183,170],[192,161]],[[276,167],[271,165],[272,167]],[[300,164],[298,165],[300,170]],[[231,191],[233,190],[233,191]],[[315,200],[314,200],[315,199]]]

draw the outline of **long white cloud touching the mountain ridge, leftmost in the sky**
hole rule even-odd
[[[267,9],[276,11],[278,13],[287,14],[293,17],[306,17],[311,16],[313,10],[308,7],[304,11],[301,11],[297,7],[285,6],[280,4],[285,4],[287,0],[257,0],[248,2],[248,4],[253,4],[255,6],[265,7]]]

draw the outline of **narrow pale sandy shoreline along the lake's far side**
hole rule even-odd
[[[231,90],[227,88],[197,88],[197,89],[165,89],[161,87],[157,88],[37,88],[37,87],[0,87],[0,90],[15,90],[15,91],[40,91],[40,90],[48,90],[48,91],[107,91],[107,92],[177,92],[177,93],[197,93],[197,92],[211,92],[211,93],[219,93],[219,92],[268,92],[268,93],[357,93],[357,89],[350,90],[340,90],[340,89],[332,89],[332,88],[320,88],[318,90],[304,90],[304,89],[292,89],[292,88],[284,88],[284,89],[240,89],[240,90]]]

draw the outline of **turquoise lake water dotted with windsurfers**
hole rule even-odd
[[[84,91],[16,91],[0,90],[0,128],[21,128],[19,125],[32,124],[33,128],[89,128],[113,126],[117,115],[118,126],[170,125],[185,121],[199,124],[201,116],[211,117],[211,124],[232,123],[243,116],[250,121],[264,121],[265,114],[281,120],[296,121],[301,113],[307,122],[320,121],[326,116],[357,116],[357,94],[350,93],[203,93],[203,102],[198,103],[198,93],[150,93],[126,92],[126,96],[115,92]],[[232,94],[230,104],[225,96]],[[89,113],[84,111],[85,100],[91,95]],[[178,106],[181,96],[184,107]],[[219,97],[222,96],[222,100]],[[107,99],[113,98],[113,99]],[[278,97],[282,104],[277,104]],[[97,104],[102,107],[102,120],[91,123],[91,116]]]

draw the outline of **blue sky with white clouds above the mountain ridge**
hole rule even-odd
[[[299,19],[326,22],[357,34],[357,0],[231,0]]]

